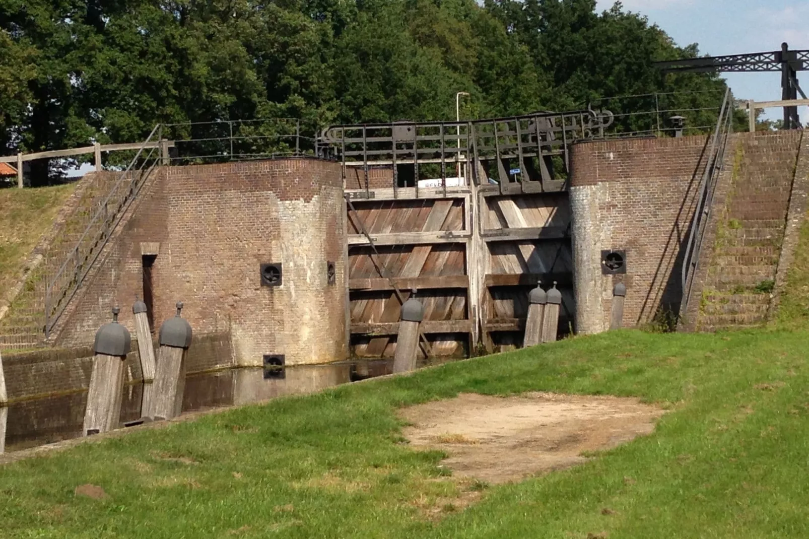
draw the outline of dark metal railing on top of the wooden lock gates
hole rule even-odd
[[[539,188],[556,179],[554,159],[567,170],[570,142],[603,138],[611,124],[611,112],[587,109],[474,121],[333,125],[320,136],[320,156],[340,160],[344,171],[362,169],[366,191],[368,169],[379,166],[392,168],[394,190],[418,188],[419,180],[434,178],[446,187],[448,176],[471,176],[478,185],[532,182]],[[412,173],[400,179],[399,165],[409,165]]]

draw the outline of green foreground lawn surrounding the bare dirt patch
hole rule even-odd
[[[625,330],[83,444],[0,467],[0,537],[805,538],[807,341]],[[502,486],[402,443],[401,405],[531,390],[671,411],[586,465]],[[85,483],[109,498],[75,497]],[[460,511],[465,489],[483,496]]]

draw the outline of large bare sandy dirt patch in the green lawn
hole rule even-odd
[[[404,436],[441,449],[457,475],[489,483],[519,481],[587,460],[582,452],[614,448],[654,431],[664,410],[637,399],[530,393],[461,394],[400,411]]]

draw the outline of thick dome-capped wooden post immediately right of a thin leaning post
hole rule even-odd
[[[171,419],[183,410],[185,357],[191,346],[191,325],[180,318],[183,303],[177,302],[177,314],[160,326],[160,351],[152,388],[150,418]]]

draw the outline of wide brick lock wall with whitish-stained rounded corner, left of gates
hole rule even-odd
[[[155,325],[181,300],[195,333],[231,332],[238,364],[260,365],[263,354],[287,364],[345,359],[342,189],[340,165],[315,159],[163,168],[105,248],[60,344],[89,344],[114,304],[131,329],[142,255],[156,254]],[[282,286],[260,286],[262,263],[282,264]]]

